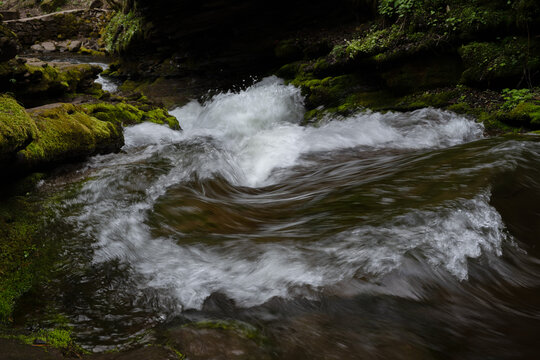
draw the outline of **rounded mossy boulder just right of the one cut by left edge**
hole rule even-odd
[[[124,144],[119,125],[99,120],[71,104],[30,113],[38,132],[36,139],[17,154],[23,168],[51,164],[119,150]]]

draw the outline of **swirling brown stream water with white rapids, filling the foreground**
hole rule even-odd
[[[43,296],[78,341],[232,319],[274,358],[534,357],[540,139],[435,109],[318,127],[303,112],[266,78],[43,185],[62,244]]]

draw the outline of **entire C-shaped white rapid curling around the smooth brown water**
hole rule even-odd
[[[300,189],[316,178],[306,177],[294,185],[299,171],[346,157],[346,166],[339,160],[332,165],[338,181],[344,176],[338,170],[345,171],[356,159],[382,163],[401,159],[406,164],[412,161],[407,154],[420,156],[480,140],[484,129],[470,119],[435,109],[362,112],[328,119],[317,127],[302,126],[300,90],[275,77],[243,91],[218,94],[203,104],[192,101],[171,113],[183,131],[150,123],[126,128],[123,152],[93,158],[85,169],[92,171],[92,178],[69,206],[78,207],[70,221],[91,240],[95,264],[113,260],[128,264],[139,290],[154,289],[178,311],[200,309],[215,292],[242,307],[273,297],[312,298],[320,291],[340,293],[351,287],[415,297],[419,290],[412,284],[418,276],[467,280],[470,259],[496,261],[504,244],[511,243],[501,216],[489,203],[489,187],[472,197],[405,208],[382,222],[358,221],[326,234],[302,237],[309,229],[298,230],[312,220],[324,221],[325,211],[330,211],[313,210],[297,222],[285,219],[267,225],[253,215],[250,221],[258,233],[236,231],[225,236],[208,230],[209,238],[219,235],[219,241],[193,242],[189,233],[175,230],[185,227],[184,220],[170,219],[185,214],[197,219],[202,210],[188,203],[169,212],[159,210],[179,187],[191,189],[211,214],[221,214],[227,206],[286,207],[291,201],[309,208],[335,195],[327,185],[294,193],[295,186]],[[377,169],[373,164],[365,175],[354,170],[351,179],[369,179]],[[392,170],[388,168],[386,172]],[[221,184],[219,179],[227,184],[227,196],[235,196],[235,205],[212,197],[211,184]],[[190,188],[194,184],[199,185]],[[274,198],[275,193],[281,197]],[[380,197],[380,204],[388,207],[395,201],[392,194]],[[349,207],[361,205],[354,204]],[[156,213],[164,219],[159,226],[151,221]],[[162,235],[163,229],[170,231]],[[274,241],[259,240],[272,236]],[[300,237],[304,240],[296,240]],[[396,272],[412,275],[400,280],[400,286],[387,286]]]

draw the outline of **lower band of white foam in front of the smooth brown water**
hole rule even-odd
[[[506,239],[500,215],[488,201],[485,193],[303,244],[177,245],[173,239],[152,238],[140,221],[142,213],[132,211],[102,232],[98,256],[129,262],[146,279],[142,288],[168,294],[179,310],[200,309],[213,292],[249,307],[274,296],[290,297],[300,287],[317,290],[358,277],[376,284],[411,254],[427,259],[435,272],[465,280],[468,261],[499,256]]]

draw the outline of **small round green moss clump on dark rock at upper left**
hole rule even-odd
[[[126,52],[132,41],[142,37],[143,20],[134,12],[117,12],[103,34],[105,49],[110,53]]]

